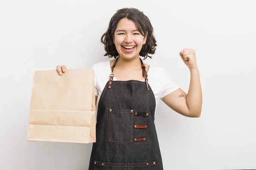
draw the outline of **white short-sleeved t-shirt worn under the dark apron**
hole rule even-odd
[[[109,80],[109,75],[111,74],[110,60],[105,62],[98,62],[94,64],[91,69],[93,69],[95,72],[95,95],[98,96],[96,102],[97,115],[99,98],[105,88],[106,83]],[[116,77],[113,77],[113,81],[116,80]],[[142,82],[145,82],[145,79],[143,79]],[[164,70],[164,68],[155,67],[153,65],[150,65],[148,70],[148,84],[150,85],[156,99],[155,113],[157,112],[158,102],[162,100],[164,96],[179,88],[179,86]]]

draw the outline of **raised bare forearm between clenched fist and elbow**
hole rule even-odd
[[[190,85],[188,94],[186,96],[186,104],[189,108],[189,113],[191,115],[201,115],[202,89],[198,68],[190,69]]]

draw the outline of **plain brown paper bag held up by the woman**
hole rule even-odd
[[[27,141],[96,142],[94,70],[35,71]]]

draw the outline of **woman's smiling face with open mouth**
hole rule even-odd
[[[113,43],[116,45],[119,57],[124,59],[139,57],[140,50],[146,40],[147,37],[140,34],[134,21],[122,18],[117,23]]]

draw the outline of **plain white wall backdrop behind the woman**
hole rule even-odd
[[[185,92],[190,72],[179,52],[196,50],[201,117],[160,103],[164,169],[256,169],[255,0],[1,0],[0,170],[87,170],[92,144],[26,141],[33,74],[108,60],[100,38],[124,7],[154,27],[157,52],[145,62],[165,67]]]

